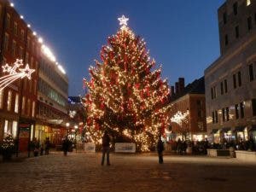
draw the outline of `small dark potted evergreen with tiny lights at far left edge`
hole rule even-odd
[[[12,154],[15,151],[15,141],[11,135],[7,135],[3,139],[3,143],[0,144],[1,154],[3,155],[3,160],[11,160]]]

